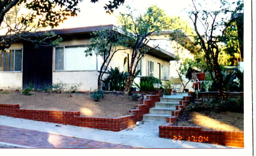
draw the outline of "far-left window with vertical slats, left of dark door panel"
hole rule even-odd
[[[0,71],[21,71],[22,49],[0,50]]]

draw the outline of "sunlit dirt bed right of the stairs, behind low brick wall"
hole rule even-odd
[[[200,126],[203,130],[243,132],[243,123],[243,113],[203,111],[181,114],[175,125]]]

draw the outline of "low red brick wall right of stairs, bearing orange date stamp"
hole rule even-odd
[[[172,123],[159,126],[159,137],[224,146],[244,147],[243,132],[202,130],[202,127],[172,126]]]

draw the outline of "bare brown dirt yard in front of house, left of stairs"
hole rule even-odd
[[[99,102],[90,94],[56,94],[31,92],[24,95],[20,91],[0,91],[0,104],[20,104],[20,109],[80,111],[81,116],[121,117],[128,115],[138,101],[126,95],[105,94]]]

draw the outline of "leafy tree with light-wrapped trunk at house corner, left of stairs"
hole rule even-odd
[[[132,49],[131,62],[128,69],[128,80],[126,82],[125,91],[130,92],[131,85],[134,81],[138,62],[146,53],[158,48],[149,47],[147,44],[156,39],[150,39],[152,33],[158,33],[164,29],[169,29],[173,20],[168,18],[164,11],[156,6],[149,7],[144,14],[135,16],[132,11],[122,13],[119,19],[122,32],[129,39],[129,45]]]

